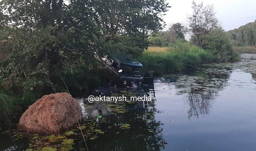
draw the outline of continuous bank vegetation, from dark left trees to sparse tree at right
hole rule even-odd
[[[193,2],[188,27],[174,23],[161,31],[169,7],[165,0],[2,0],[0,91],[1,104],[9,108],[0,108],[6,113],[0,115],[1,123],[10,124],[14,112],[44,94],[68,87],[79,95],[97,87],[95,54],[125,52],[141,61],[145,71],[156,68],[158,74],[239,60],[212,5]],[[150,45],[167,49],[145,51]]]

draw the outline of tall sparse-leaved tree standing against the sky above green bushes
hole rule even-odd
[[[192,9],[193,15],[188,17],[191,41],[195,45],[202,47],[204,43],[202,37],[218,28],[218,19],[215,16],[216,13],[213,5],[203,6],[203,3],[197,5],[193,1]]]

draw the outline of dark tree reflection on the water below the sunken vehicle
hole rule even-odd
[[[123,94],[123,90],[111,89],[111,96],[118,96]],[[127,97],[131,95],[124,93]],[[151,102],[139,102],[136,104],[123,104],[110,103],[110,102],[97,102],[85,105],[88,115],[96,118],[95,116],[101,115],[106,118],[105,123],[100,123],[101,127],[113,127],[110,132],[106,132],[96,141],[88,140],[87,145],[89,150],[102,150],[102,151],[160,151],[165,149],[167,142],[163,139],[163,125],[161,121],[155,119],[157,110],[155,108],[155,91],[154,87],[147,87],[146,89],[135,90],[136,96],[151,96],[153,100]],[[108,93],[109,94],[109,93]],[[86,99],[85,99],[86,100]],[[126,112],[122,114],[116,114],[113,105],[123,105]],[[106,113],[103,111],[106,110]],[[112,113],[112,114],[111,114]],[[130,129],[120,129],[121,124],[129,124]],[[80,146],[77,146],[79,148]]]

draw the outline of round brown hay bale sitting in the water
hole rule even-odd
[[[82,109],[68,93],[44,95],[23,113],[19,130],[60,134],[82,118]]]

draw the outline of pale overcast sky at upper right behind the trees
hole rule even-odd
[[[256,19],[256,0],[194,0],[197,4],[213,4],[216,17],[225,30],[238,28]],[[187,16],[192,14],[192,0],[167,0],[171,8],[163,16],[167,24],[187,23]],[[168,25],[167,25],[168,26]],[[167,27],[166,27],[167,28]]]

